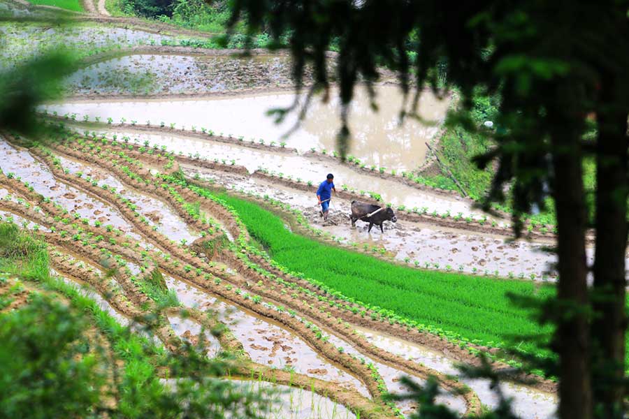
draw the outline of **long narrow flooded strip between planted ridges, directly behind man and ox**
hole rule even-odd
[[[319,184],[328,172],[332,172],[335,175],[335,185],[338,190],[342,188],[342,185],[347,185],[356,191],[379,193],[382,195],[384,202],[390,202],[396,206],[405,205],[408,208],[417,207],[418,209],[426,207],[428,212],[437,211],[439,214],[449,211],[451,214],[456,215],[458,212],[461,212],[464,216],[472,216],[475,219],[480,219],[483,216],[479,210],[472,209],[467,200],[456,196],[435,195],[401,184],[395,180],[381,179],[354,172],[354,170],[328,159],[319,160],[296,154],[282,154],[240,147],[237,145],[238,140],[234,140],[234,145],[226,145],[198,138],[146,134],[138,133],[137,131],[111,131],[111,135],[117,135],[117,138],[129,136],[134,140],[137,139],[140,144],[147,140],[151,145],[165,145],[168,147],[168,150],[182,152],[182,154],[189,156],[198,154],[199,158],[205,158],[210,161],[217,159],[230,164],[233,160],[233,163],[245,166],[250,172],[263,168],[277,174],[282,173],[286,178],[301,179],[302,182],[310,181],[312,184]],[[252,182],[258,181],[252,180]],[[316,203],[314,193],[312,194],[312,200]]]

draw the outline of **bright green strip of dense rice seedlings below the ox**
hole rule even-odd
[[[253,203],[226,194],[220,198],[240,214],[252,237],[274,260],[347,297],[490,346],[512,336],[549,332],[530,319],[528,310],[516,307],[507,293],[548,297],[554,286],[387,263],[291,233],[280,217]],[[515,339],[514,344],[537,351],[526,339]]]

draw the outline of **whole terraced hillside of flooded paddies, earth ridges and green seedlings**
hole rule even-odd
[[[36,249],[24,263],[1,256],[0,316],[37,307],[25,295],[49,295],[109,342],[115,368],[142,365],[144,383],[168,353],[203,342],[208,358],[231,360],[224,380],[286,390],[268,415],[277,418],[408,415],[416,405],[387,398],[405,391],[404,375],[436,377],[439,402],[478,413],[496,394],[457,362],[479,365],[484,353],[507,372],[517,362],[503,348],[544,354],[521,336],[549,330],[507,293],[554,292],[544,251],[553,226],[530,225],[529,241],[509,242],[505,218],[422,181],[425,143],[438,141],[449,102],[426,94],[437,125],[406,128],[359,103],[363,131],[341,162],[334,103],[286,139],[261,115],[292,97],[287,57],[191,51],[189,39],[208,34],[156,34],[159,25],[108,17],[103,5],[84,1],[77,27],[3,24],[13,62],[40,53],[28,47],[34,36],[92,51],[66,80],[70,97],[38,109],[48,135],[1,133],[0,233]],[[395,86],[377,89],[395,106]],[[323,223],[314,192],[326,172],[339,193]],[[349,228],[355,199],[391,203],[398,223],[382,235]],[[139,346],[150,350],[124,350]],[[509,378],[516,413],[553,415],[553,381]]]

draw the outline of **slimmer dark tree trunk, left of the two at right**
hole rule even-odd
[[[571,124],[572,123],[572,124]],[[580,129],[561,118],[551,133],[557,215],[558,309],[554,348],[559,355],[559,417],[591,419],[586,206],[581,168]]]

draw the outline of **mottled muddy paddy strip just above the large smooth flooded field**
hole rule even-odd
[[[83,68],[66,79],[75,94],[212,93],[289,87],[288,57],[137,54]]]

